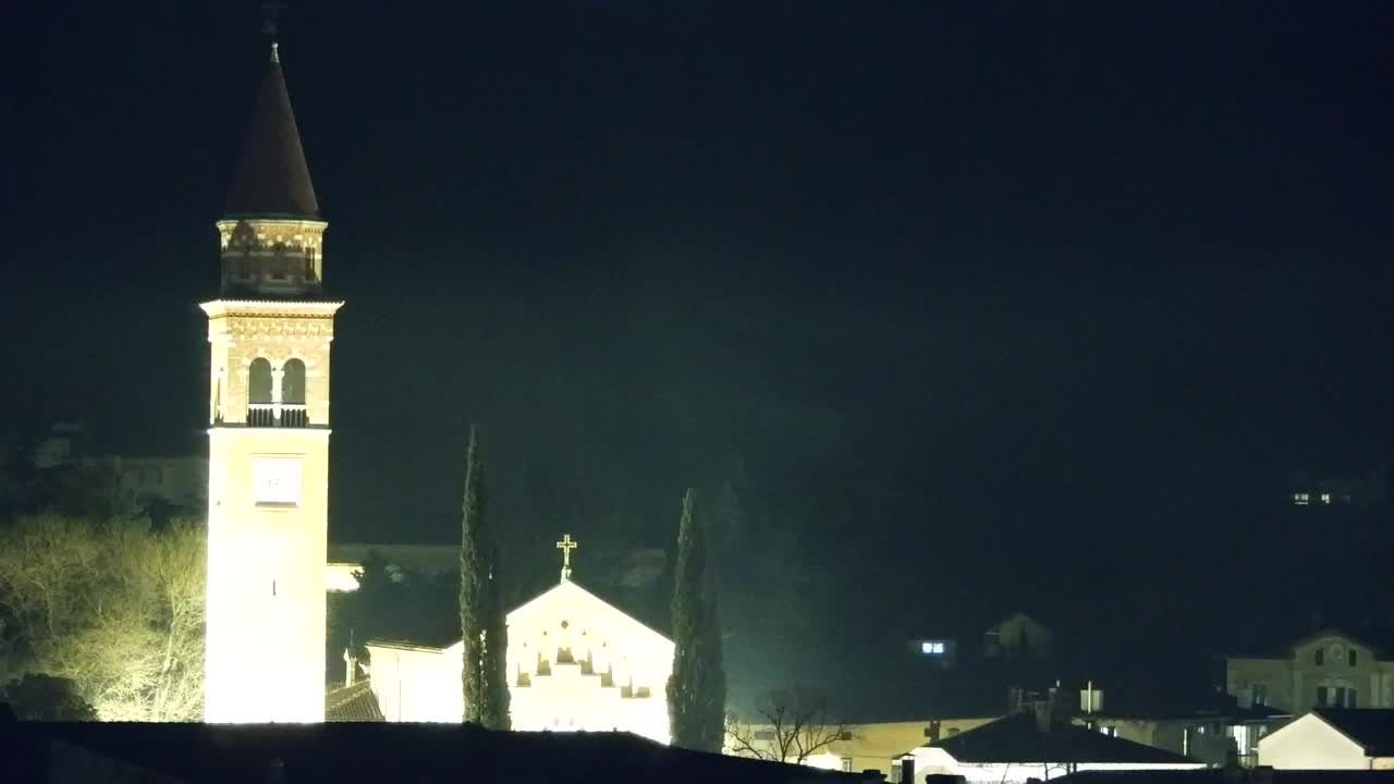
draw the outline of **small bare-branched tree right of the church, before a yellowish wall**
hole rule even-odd
[[[804,764],[853,732],[829,717],[824,699],[800,686],[765,695],[750,721],[726,714],[726,751],[774,762]]]

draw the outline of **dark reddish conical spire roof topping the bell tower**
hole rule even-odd
[[[227,194],[227,216],[319,218],[319,201],[309,181],[309,166],[300,145],[300,130],[275,43],[243,158]]]

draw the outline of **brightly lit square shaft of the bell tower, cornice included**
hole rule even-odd
[[[213,360],[205,720],[322,721],[329,343],[339,304],[202,307]],[[312,427],[247,427],[255,357],[276,368],[289,357],[305,363]]]

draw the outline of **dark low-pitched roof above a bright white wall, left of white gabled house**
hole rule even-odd
[[[944,749],[960,763],[1184,764],[1193,762],[1164,749],[1111,738],[1072,724],[1057,724],[1048,731],[1041,731],[1036,716],[1030,713],[1015,713],[927,745]]]

